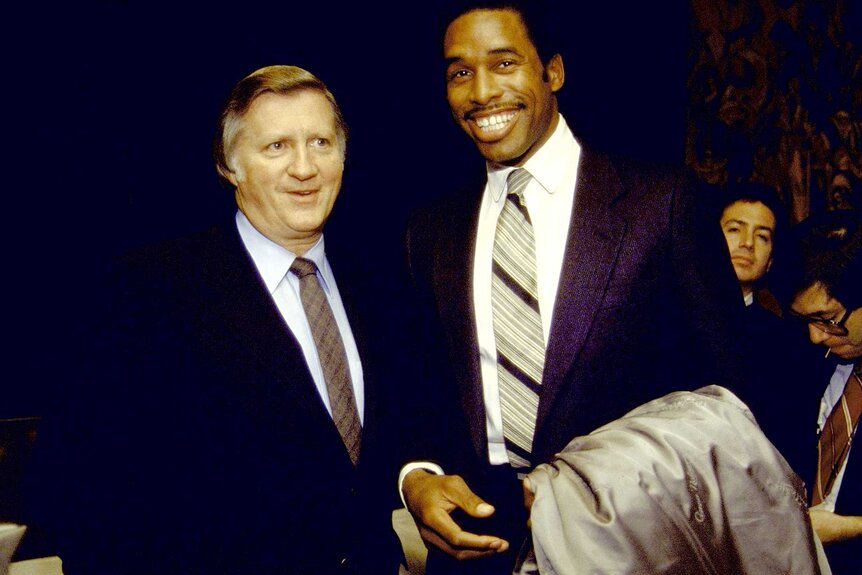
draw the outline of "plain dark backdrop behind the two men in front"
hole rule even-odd
[[[229,217],[211,160],[219,107],[265,65],[326,82],[350,126],[327,243],[392,270],[405,218],[482,169],[445,101],[438,3],[101,2],[8,13],[7,323],[0,417],[39,415],[86,354],[78,326],[110,258]],[[561,107],[581,137],[683,161],[688,9],[561,8]],[[575,4],[575,3],[572,3]],[[624,7],[624,10],[623,10]],[[371,259],[373,258],[373,259]],[[385,281],[386,278],[383,278]]]

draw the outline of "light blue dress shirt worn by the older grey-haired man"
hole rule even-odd
[[[299,299],[299,277],[296,274],[290,273],[290,266],[293,264],[293,260],[296,259],[296,254],[261,234],[241,211],[237,211],[236,213],[236,227],[239,230],[239,236],[242,239],[243,245],[245,245],[245,249],[251,255],[252,260],[254,260],[257,273],[260,274],[267,291],[272,296],[276,307],[278,307],[278,311],[281,312],[281,316],[284,318],[287,327],[290,328],[290,331],[302,347],[305,362],[308,364],[308,370],[311,372],[314,384],[317,386],[320,399],[323,400],[326,410],[332,415],[332,407],[329,404],[329,393],[326,390],[326,380],[323,377],[323,368],[317,356],[317,346],[314,344],[311,328],[308,325],[308,319],[305,317],[302,301]],[[326,259],[323,236],[302,257],[313,261],[317,265],[317,279],[320,280],[323,291],[329,300],[332,315],[335,316],[335,323],[338,324],[341,340],[344,342],[344,351],[347,353],[350,380],[353,382],[353,394],[356,397],[359,420],[364,421],[365,394],[363,391],[362,362],[359,359],[356,340],[353,339],[353,332],[350,330],[347,313],[344,310],[341,296],[338,293],[335,276],[332,274],[332,269],[329,267],[329,262]]]

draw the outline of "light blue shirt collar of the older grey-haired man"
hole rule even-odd
[[[296,254],[260,233],[240,210],[236,212],[236,227],[245,249],[248,250],[261,279],[266,284],[266,289],[272,294],[290,271],[290,266],[297,257]],[[321,235],[317,243],[302,257],[313,261],[317,264],[317,269],[323,272],[326,262],[325,253],[323,235]]]

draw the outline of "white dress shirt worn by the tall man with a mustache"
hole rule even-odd
[[[581,148],[562,115],[548,141],[524,164],[533,179],[524,191],[524,199],[536,240],[536,267],[539,310],[545,346],[551,331],[554,302],[560,281],[560,270],[569,237],[569,220],[575,200],[575,184]],[[473,261],[473,305],[476,310],[476,335],[482,389],[485,398],[488,453],[495,465],[509,462],[503,441],[503,420],[497,383],[497,348],[491,305],[491,267],[497,219],[506,203],[506,178],[511,166],[488,163],[488,180],[479,211],[476,251]]]

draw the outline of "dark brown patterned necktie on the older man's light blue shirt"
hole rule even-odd
[[[347,353],[341,341],[341,332],[329,307],[329,300],[317,279],[317,266],[313,261],[296,258],[290,271],[299,276],[299,299],[305,317],[311,327],[314,345],[323,368],[326,380],[326,390],[329,394],[329,405],[332,408],[332,420],[341,435],[344,446],[350,454],[353,464],[359,459],[359,449],[362,440],[362,424],[356,409],[353,396],[353,385],[350,382],[350,369],[347,366]]]

